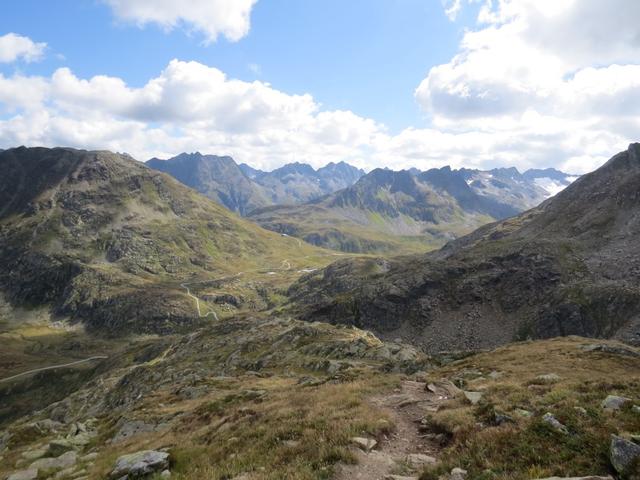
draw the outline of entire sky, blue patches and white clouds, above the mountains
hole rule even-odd
[[[0,148],[584,173],[640,139],[637,18],[637,0],[4,0]]]

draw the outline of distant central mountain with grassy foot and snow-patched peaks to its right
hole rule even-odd
[[[575,179],[556,170],[376,169],[316,201],[257,209],[249,218],[270,230],[344,252],[425,251],[538,205],[555,193],[541,186],[549,184],[549,175],[557,189]]]

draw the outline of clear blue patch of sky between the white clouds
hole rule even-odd
[[[463,20],[449,21],[440,0],[261,0],[249,35],[206,45],[188,28],[136,28],[98,1],[20,0],[4,7],[0,32],[47,42],[53,55],[18,66],[30,73],[69,66],[80,77],[107,73],[142,86],[173,58],[196,60],[400,131],[424,123],[413,90],[454,55]],[[0,64],[5,74],[14,68]]]

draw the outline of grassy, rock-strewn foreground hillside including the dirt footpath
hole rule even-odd
[[[238,319],[136,350],[5,424],[0,478],[640,478],[640,351],[623,344],[431,358]]]

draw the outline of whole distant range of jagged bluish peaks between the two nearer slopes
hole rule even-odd
[[[351,253],[439,247],[538,205],[576,178],[554,169],[521,174],[515,168],[365,174],[345,162],[318,170],[292,163],[265,172],[200,153],[147,165],[264,228]]]

